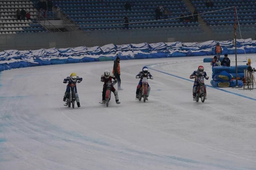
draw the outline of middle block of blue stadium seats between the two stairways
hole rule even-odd
[[[168,28],[180,27],[198,30],[200,29],[198,22],[183,23],[180,19],[170,19],[166,21],[137,23],[143,21],[151,21],[156,19],[155,9],[162,4],[166,7],[171,15],[168,18],[179,17],[182,13],[189,14],[188,8],[181,0],[167,1],[129,1],[132,10],[125,10],[124,4],[127,0],[53,0],[55,6],[67,14],[67,16],[81,25],[83,30],[115,30],[123,29],[124,16],[129,18],[130,29],[143,28]],[[162,18],[163,19],[163,16]],[[108,25],[115,24],[115,25]],[[187,30],[187,29],[186,29]],[[200,30],[201,31],[201,30]]]

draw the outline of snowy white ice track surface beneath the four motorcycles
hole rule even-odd
[[[121,60],[121,104],[112,94],[108,108],[100,76],[113,61],[1,72],[0,169],[256,169],[256,90],[213,88],[210,78],[208,99],[196,103],[189,75],[203,65],[211,77],[205,57]],[[256,67],[255,54],[247,58]],[[145,65],[154,79],[143,103],[135,75]],[[83,77],[75,109],[62,101],[72,72]]]

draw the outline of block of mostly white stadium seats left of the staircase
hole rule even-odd
[[[16,10],[29,11],[31,19],[17,20]],[[0,1],[0,34],[16,34],[25,32],[45,32],[36,24],[36,9],[29,0],[1,0]],[[35,23],[35,24],[33,24]]]

